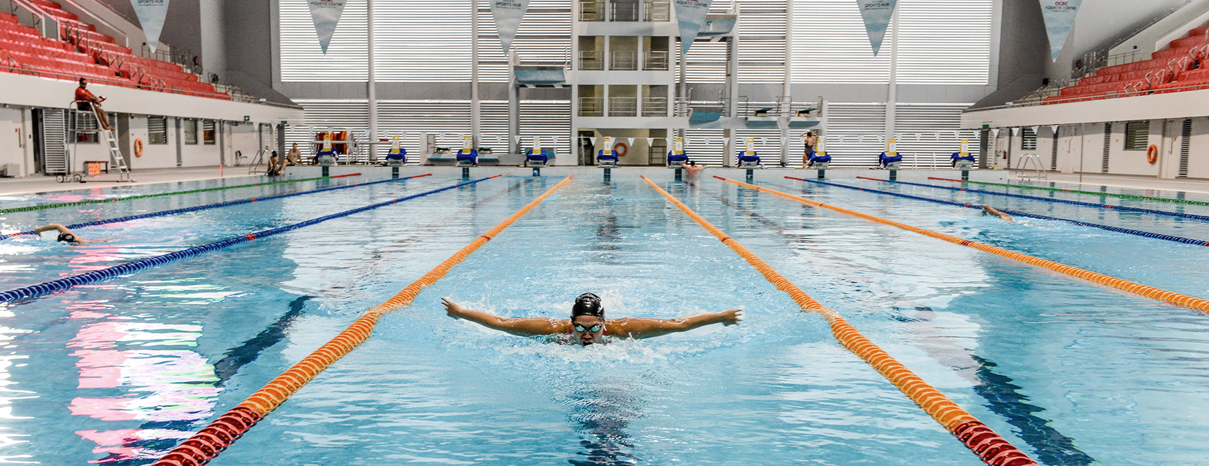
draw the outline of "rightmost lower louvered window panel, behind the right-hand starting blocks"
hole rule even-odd
[[[978,132],[959,132],[961,110],[973,104],[898,104],[895,133],[904,168],[949,168],[961,139],[978,140]],[[881,129],[884,132],[884,129]],[[881,153],[881,151],[878,151]]]

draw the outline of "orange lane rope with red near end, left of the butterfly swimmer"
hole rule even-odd
[[[196,435],[181,442],[172,452],[168,452],[154,462],[152,466],[204,465],[218,456],[219,453],[242,437],[256,423],[268,415],[268,413],[280,407],[290,395],[294,395],[295,391],[311,381],[320,372],[365,342],[374,332],[378,319],[410,305],[421,290],[444,278],[453,266],[461,263],[470,254],[486,244],[487,240],[498,235],[504,228],[508,228],[513,222],[520,220],[520,217],[545,200],[545,198],[554,194],[555,191],[559,191],[559,188],[571,181],[571,176],[562,179],[562,181],[554,185],[554,187],[537,199],[533,199],[528,205],[525,205],[521,210],[517,210],[510,217],[496,225],[487,233],[475,238],[474,241],[470,241],[470,244],[455,252],[445,262],[438,264],[411,285],[407,285],[407,287],[403,289],[403,291],[391,299],[368,309],[335,338],[303,357],[260,390],[256,390],[255,394],[212,421]]]

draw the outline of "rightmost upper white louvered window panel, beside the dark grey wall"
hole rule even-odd
[[[902,0],[898,83],[985,86],[990,75],[991,2]],[[890,52],[885,47],[883,51]]]

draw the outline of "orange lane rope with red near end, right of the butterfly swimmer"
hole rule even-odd
[[[716,176],[717,177],[717,176]],[[862,360],[868,362],[881,373],[890,383],[895,384],[908,398],[910,398],[915,404],[919,404],[932,419],[936,419],[944,429],[958,437],[962,444],[973,450],[979,459],[989,465],[995,466],[1025,466],[1036,465],[1032,459],[1029,458],[1024,452],[1012,445],[1010,442],[999,436],[985,424],[979,421],[972,414],[962,409],[958,403],[954,403],[939,390],[929,385],[919,375],[915,375],[907,366],[895,360],[890,354],[887,354],[881,348],[878,348],[873,342],[866,338],[861,332],[856,330],[851,324],[849,324],[844,318],[839,316],[839,313],[828,309],[817,301],[815,301],[805,291],[802,291],[797,285],[791,282],[783,275],[777,273],[767,262],[756,256],[752,251],[744,247],[742,244],[734,240],[727,235],[722,229],[715,227],[707,220],[698,215],[688,205],[676,199],[672,194],[664,191],[654,181],[643,176],[643,180],[650,185],[652,188],[663,194],[670,203],[679,208],[686,215],[698,222],[702,228],[713,234],[718,240],[725,244],[730,250],[735,251],[740,257],[747,261],[752,267],[756,268],[764,278],[776,286],[777,290],[786,292],[789,297],[802,307],[802,310],[808,313],[815,313],[822,316],[832,328],[832,334],[839,340],[844,348],[860,356]]]

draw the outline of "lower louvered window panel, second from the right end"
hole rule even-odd
[[[833,103],[827,105],[827,155],[833,168],[867,168],[885,151],[886,105]]]

